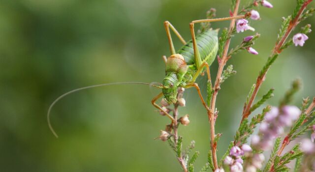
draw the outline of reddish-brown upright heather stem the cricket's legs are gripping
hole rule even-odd
[[[240,1],[241,0],[236,0],[233,16],[237,16],[237,14],[238,14]],[[229,27],[229,35],[232,34],[234,27],[235,27],[235,19],[232,19],[230,22],[230,27]],[[209,120],[210,120],[211,151],[212,151],[212,159],[213,159],[215,169],[218,169],[218,160],[217,160],[217,143],[215,142],[215,114],[214,113],[215,113],[215,108],[216,108],[216,99],[217,99],[218,91],[220,90],[221,75],[223,72],[223,68],[226,64],[226,61],[229,59],[227,57],[227,53],[228,53],[230,41],[231,41],[231,38],[228,38],[226,40],[226,43],[224,46],[223,55],[221,58],[221,62],[219,63],[217,78],[216,78],[215,86],[213,89],[214,92],[213,92],[213,96],[212,96],[211,103],[210,103],[210,110],[211,111],[208,113]]]

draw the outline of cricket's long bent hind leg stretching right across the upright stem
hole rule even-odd
[[[195,31],[194,31],[194,24],[195,23],[204,23],[204,22],[220,22],[220,21],[225,21],[225,20],[232,20],[232,19],[242,19],[245,18],[244,15],[240,16],[233,16],[233,17],[225,17],[225,18],[218,18],[218,19],[203,19],[203,20],[194,20],[189,24],[190,32],[191,32],[191,37],[192,37],[192,44],[193,44],[193,53],[195,57],[195,63],[197,69],[199,69],[202,65],[202,59],[200,57],[198,47],[197,47],[197,42],[196,42],[196,36],[195,36]]]

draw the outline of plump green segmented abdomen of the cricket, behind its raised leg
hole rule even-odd
[[[218,52],[218,31],[212,29],[204,31],[196,36],[196,41],[202,61],[206,60],[210,65]],[[189,40],[177,53],[184,56],[188,65],[195,64],[192,40]]]

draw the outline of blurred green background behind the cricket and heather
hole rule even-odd
[[[246,0],[242,0],[246,4]],[[71,89],[101,83],[161,82],[162,55],[169,56],[163,21],[169,20],[190,38],[189,22],[214,7],[217,17],[229,15],[230,0],[1,0],[0,1],[0,171],[1,172],[172,172],[180,166],[171,148],[154,138],[168,119],[154,112],[150,101],[159,90],[149,86],[107,86],[72,94],[52,111],[50,103]],[[261,33],[258,56],[239,53],[228,61],[237,75],[222,86],[216,132],[220,158],[241,119],[250,87],[271,53],[281,17],[291,14],[295,0],[270,0],[274,8],[258,7],[261,21],[250,25]],[[311,6],[314,7],[314,2]],[[314,17],[304,21],[315,26]],[[228,27],[229,22],[213,28]],[[301,25],[301,26],[302,26]],[[296,33],[298,30],[295,30]],[[246,31],[231,43],[236,46]],[[174,37],[174,36],[173,36]],[[314,96],[315,33],[304,47],[285,50],[268,72],[258,93],[275,88],[267,103],[277,105],[295,78],[301,98]],[[174,37],[176,48],[181,46]],[[217,62],[211,66],[216,75]],[[214,78],[214,77],[213,77]],[[206,77],[198,79],[205,93]],[[191,123],[180,127],[187,145],[196,141],[199,170],[209,150],[207,115],[195,90],[185,91]],[[257,110],[255,113],[259,113]]]

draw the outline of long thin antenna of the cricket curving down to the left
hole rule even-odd
[[[149,85],[149,86],[155,86],[155,87],[158,87],[158,88],[163,88],[163,86],[156,86],[156,85],[153,85],[153,84],[141,83],[141,82],[120,82],[120,83],[98,84],[98,85],[85,86],[85,87],[73,89],[73,90],[68,91],[68,92],[64,93],[63,95],[59,96],[59,97],[49,106],[49,109],[48,109],[48,112],[47,112],[47,122],[48,122],[48,126],[49,126],[50,131],[55,135],[56,138],[58,138],[57,133],[55,132],[54,128],[52,127],[52,125],[51,125],[51,123],[50,123],[50,112],[51,112],[52,108],[54,107],[54,105],[55,105],[60,99],[62,99],[63,97],[65,97],[65,96],[67,96],[67,95],[69,95],[69,94],[71,94],[71,93],[74,93],[74,92],[77,92],[77,91],[81,91],[81,90],[83,90],[83,89],[89,89],[89,88],[94,88],[94,87],[99,87],[99,86],[120,85],[120,84],[143,84],[143,85]]]

